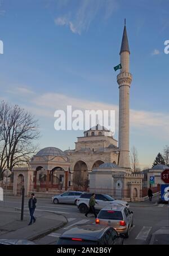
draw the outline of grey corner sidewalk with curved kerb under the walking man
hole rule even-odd
[[[25,239],[33,241],[46,236],[63,227],[68,220],[63,215],[50,211],[35,211],[36,222],[28,226],[29,212],[24,212],[24,220],[20,221],[20,211],[14,208],[3,207],[0,209],[0,239]]]

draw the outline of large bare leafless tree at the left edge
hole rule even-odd
[[[39,138],[34,116],[21,107],[0,103],[0,177],[7,168],[28,163],[37,150],[33,141]]]

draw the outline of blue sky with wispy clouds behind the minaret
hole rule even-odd
[[[153,3],[152,3],[153,2]],[[0,1],[0,99],[39,119],[40,147],[74,149],[83,131],[55,131],[54,112],[118,110],[117,72],[124,18],[131,50],[130,144],[148,167],[169,144],[169,1]],[[118,112],[116,111],[116,127]],[[115,138],[118,138],[118,127]]]

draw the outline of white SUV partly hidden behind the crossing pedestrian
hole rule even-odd
[[[83,193],[81,196],[77,199],[77,207],[81,213],[85,213],[88,210],[88,203],[91,198],[92,193]],[[96,210],[101,210],[105,206],[108,206],[112,203],[115,203],[116,205],[122,205],[129,207],[128,203],[126,201],[114,199],[113,197],[108,196],[108,194],[96,194]]]

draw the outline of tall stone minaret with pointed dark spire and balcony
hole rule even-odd
[[[130,168],[129,119],[130,119],[130,84],[132,75],[129,72],[130,49],[128,45],[126,19],[120,51],[122,69],[117,76],[119,85],[119,167]]]

